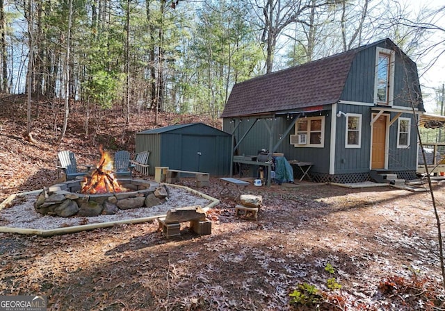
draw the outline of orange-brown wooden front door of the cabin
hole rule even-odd
[[[385,150],[387,146],[386,138],[387,138],[387,115],[381,115],[373,123],[371,169],[385,169]]]

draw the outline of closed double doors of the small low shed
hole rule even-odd
[[[215,159],[215,137],[183,135],[181,162],[185,171],[209,173]]]

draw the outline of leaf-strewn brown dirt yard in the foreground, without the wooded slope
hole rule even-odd
[[[218,198],[220,188],[212,178],[200,190]],[[435,190],[442,205],[441,182]],[[263,197],[258,220],[236,218],[236,202],[219,198],[211,235],[183,224],[181,237],[165,239],[156,221],[47,238],[0,233],[0,292],[45,295],[49,310],[315,310],[289,304],[307,283],[340,297],[322,310],[422,310],[427,300],[414,294],[405,308],[406,294],[382,292],[394,276],[416,276],[442,295],[429,192],[303,182],[246,193]],[[332,277],[341,289],[327,287]]]

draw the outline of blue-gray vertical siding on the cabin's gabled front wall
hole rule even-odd
[[[375,85],[375,56],[376,47],[391,49],[382,42],[370,49],[359,51],[351,65],[350,74],[346,81],[341,101],[373,104]],[[394,66],[394,101],[393,106],[411,109],[411,102],[418,99],[421,94],[419,77],[416,64],[404,53],[395,53]],[[417,108],[417,107],[416,107]],[[339,104],[337,110],[362,115],[362,144],[359,149],[346,149],[346,122],[337,119],[337,142],[335,154],[335,173],[346,174],[348,172],[369,171],[371,156],[371,109],[369,106],[353,104]],[[396,112],[385,112],[389,119],[396,117]],[[415,171],[416,170],[416,117],[411,113],[403,113],[400,117],[410,118],[412,131],[410,134],[410,146],[398,148],[398,122],[394,122],[389,128],[388,142],[388,169],[393,171]],[[339,118],[345,119],[345,118]]]

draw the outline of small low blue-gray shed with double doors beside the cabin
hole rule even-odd
[[[180,124],[136,133],[136,152],[151,151],[149,174],[155,167],[230,174],[232,136],[202,123]]]

